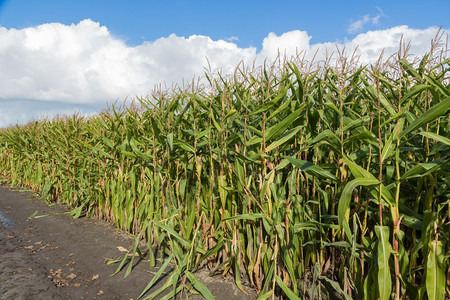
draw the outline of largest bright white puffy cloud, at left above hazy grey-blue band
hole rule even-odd
[[[145,95],[159,82],[190,80],[203,72],[206,57],[228,72],[256,54],[255,48],[196,35],[129,47],[91,20],[0,28],[0,41],[0,99],[77,103]]]

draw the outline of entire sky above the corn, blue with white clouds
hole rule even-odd
[[[450,1],[0,0],[0,127],[181,86],[208,65],[223,74],[278,53],[345,47],[360,62],[423,55]]]

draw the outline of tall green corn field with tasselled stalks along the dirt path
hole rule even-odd
[[[280,60],[2,129],[0,176],[136,235],[117,272],[158,265],[144,299],[212,299],[202,267],[259,299],[448,298],[450,59],[406,53]]]

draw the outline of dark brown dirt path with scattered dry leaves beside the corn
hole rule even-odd
[[[0,299],[136,299],[151,280],[147,262],[123,278],[107,259],[133,238],[111,225],[73,219],[31,192],[0,186]],[[156,270],[155,270],[156,271]],[[255,299],[222,278],[199,277],[216,299]],[[201,299],[201,297],[190,297]]]

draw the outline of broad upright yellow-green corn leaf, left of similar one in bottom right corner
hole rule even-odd
[[[375,226],[375,234],[378,237],[377,262],[378,262],[378,292],[381,300],[389,300],[391,296],[391,271],[389,258],[391,256],[391,244],[389,243],[389,227]]]

